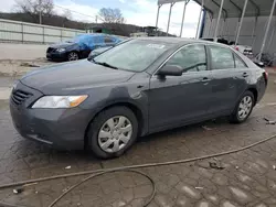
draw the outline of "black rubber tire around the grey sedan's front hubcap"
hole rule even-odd
[[[119,151],[115,153],[108,153],[104,151],[98,143],[98,133],[105,122],[116,116],[126,117],[132,127],[132,133],[128,143]],[[88,150],[93,152],[99,159],[112,159],[124,154],[135,143],[138,135],[138,122],[135,113],[127,107],[113,107],[99,112],[92,121],[87,131]]]

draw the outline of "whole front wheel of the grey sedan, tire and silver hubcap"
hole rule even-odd
[[[127,107],[113,107],[102,111],[91,123],[87,139],[89,150],[100,157],[121,155],[137,139],[138,122]]]

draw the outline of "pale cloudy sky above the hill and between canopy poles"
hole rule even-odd
[[[0,11],[9,12],[14,9],[15,0],[6,0],[1,2]],[[84,14],[92,15],[85,17],[72,12],[74,20],[83,20],[86,22],[95,22],[95,15],[100,8],[118,8],[121,10],[124,17],[129,24],[140,26],[155,25],[157,15],[157,0],[54,0],[56,6],[67,8]],[[170,33],[179,35],[180,24],[182,19],[184,3],[178,2],[172,8]],[[167,30],[169,4],[162,6],[159,17],[159,28],[163,31]],[[63,13],[60,8],[55,8],[56,13]],[[187,7],[185,23],[182,36],[194,37],[197,23],[200,14],[200,6],[194,1],[190,1]]]

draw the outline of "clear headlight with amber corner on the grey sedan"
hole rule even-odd
[[[73,108],[81,105],[88,96],[44,96],[36,100],[32,108],[61,109]]]

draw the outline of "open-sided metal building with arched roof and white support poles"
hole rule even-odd
[[[158,13],[162,4],[170,3],[170,14],[173,6],[190,0],[159,0]],[[194,0],[202,8],[195,37],[224,37],[236,44],[248,45],[261,59],[263,53],[269,53],[276,59],[276,0]],[[183,8],[183,14],[185,7]],[[170,26],[170,14],[168,30]],[[184,17],[184,15],[183,15]],[[202,18],[203,17],[203,18]],[[203,19],[203,20],[202,20]],[[183,21],[180,36],[184,33]],[[157,15],[158,25],[158,15]],[[182,31],[183,30],[183,31]]]

